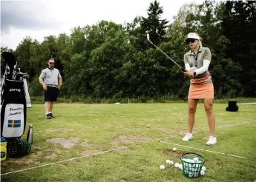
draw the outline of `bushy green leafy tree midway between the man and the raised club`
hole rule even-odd
[[[124,64],[128,46],[124,30],[109,29],[105,36],[105,43],[91,52],[89,74],[96,97],[109,98],[122,93],[123,82],[119,76],[119,69]]]

